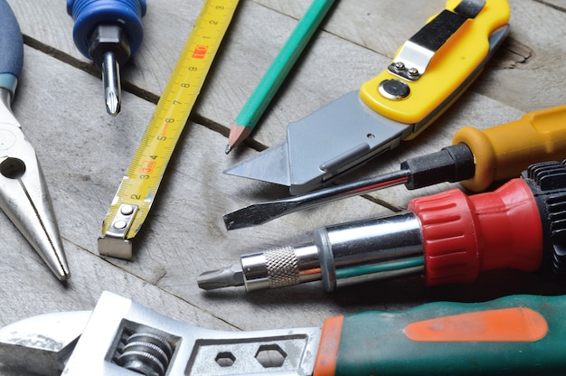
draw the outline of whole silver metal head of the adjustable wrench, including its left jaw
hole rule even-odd
[[[0,329],[0,362],[45,376],[312,375],[320,327],[216,331],[104,292],[94,311]]]

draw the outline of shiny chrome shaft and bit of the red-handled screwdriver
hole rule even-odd
[[[203,273],[199,287],[248,291],[322,280],[326,291],[424,271],[420,221],[411,212],[315,230],[314,241],[241,257],[241,266]],[[235,278],[234,275],[241,275]]]

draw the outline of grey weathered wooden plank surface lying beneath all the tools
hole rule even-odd
[[[116,118],[105,111],[99,72],[72,42],[65,2],[8,3],[25,43],[14,113],[46,174],[72,277],[61,284],[0,215],[0,326],[47,312],[92,309],[103,290],[190,324],[224,330],[317,326],[328,316],[436,300],[566,292],[556,282],[508,270],[486,272],[466,286],[427,288],[415,277],[334,294],[318,283],[253,294],[243,288],[206,293],[196,285],[204,270],[230,265],[241,253],[300,244],[317,226],[400,211],[412,197],[458,186],[412,192],[395,187],[373,193],[373,200],[351,198],[230,233],[222,222],[224,213],[288,195],[285,187],[225,175],[223,169],[283,142],[289,122],[382,71],[444,1],[336,1],[250,143],[226,156],[232,120],[310,4],[242,0],[130,261],[99,256],[101,222],[203,1],[147,2],[145,40],[123,69],[122,111]],[[493,127],[566,103],[566,1],[510,4],[510,35],[467,93],[424,134],[349,175],[350,180],[396,170],[408,157],[448,146],[458,127]],[[22,374],[2,366],[0,373]]]

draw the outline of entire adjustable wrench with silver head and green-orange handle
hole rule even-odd
[[[0,329],[0,362],[41,375],[563,374],[566,296],[437,302],[322,327],[230,332],[105,292],[89,311]]]

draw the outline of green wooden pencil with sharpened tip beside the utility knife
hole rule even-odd
[[[325,18],[326,12],[333,3],[334,0],[314,0],[309,6],[307,13],[298,22],[295,30],[234,120],[228,137],[226,154],[230,153],[231,149],[240,144],[247,136],[250,136],[259,118],[263,115],[263,111],[268,107],[269,102],[275,96],[281,83],[287,77],[288,72],[305,49],[307,42]]]

